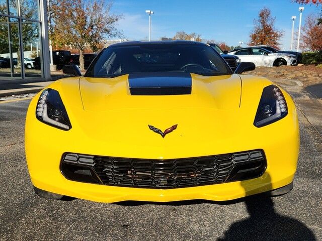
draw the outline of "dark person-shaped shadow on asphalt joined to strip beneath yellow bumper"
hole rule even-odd
[[[267,178],[270,178],[270,176],[268,175]],[[243,186],[243,183],[244,182],[242,181],[241,186]],[[244,187],[244,189],[247,194],[246,187]],[[201,203],[230,205],[239,202],[244,202],[246,204],[249,217],[232,223],[230,227],[224,231],[223,237],[217,239],[218,241],[316,240],[313,232],[304,223],[277,213],[274,209],[273,199],[268,193],[222,202],[207,200],[188,200],[167,203],[124,201],[114,204],[125,206],[139,206],[144,204],[180,206]],[[218,231],[221,232],[221,230]]]

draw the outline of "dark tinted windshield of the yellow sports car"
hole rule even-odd
[[[208,45],[138,44],[103,50],[85,76],[115,77],[142,72],[189,72],[207,76],[231,74],[221,57]]]

